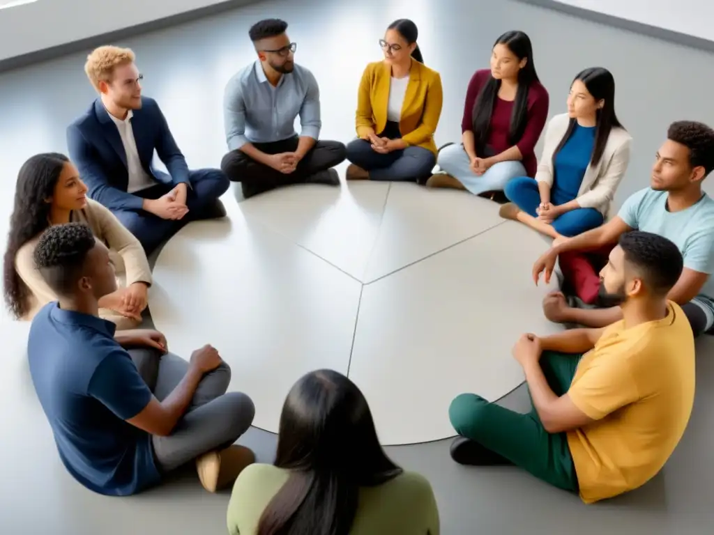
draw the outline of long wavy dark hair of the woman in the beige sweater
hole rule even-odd
[[[49,200],[67,162],[69,158],[64,154],[36,154],[22,165],[17,176],[3,278],[5,304],[18,318],[27,312],[29,289],[17,274],[15,257],[19,248],[50,226]]]

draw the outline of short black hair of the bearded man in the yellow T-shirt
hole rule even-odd
[[[625,253],[625,262],[638,270],[655,295],[667,295],[682,275],[682,253],[664,236],[633,230],[621,235],[618,245]]]

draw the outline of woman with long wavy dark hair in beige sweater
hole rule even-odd
[[[36,269],[33,253],[50,225],[86,223],[111,251],[119,289],[99,300],[99,315],[118,330],[141,322],[151,270],[139,240],[99,203],[86,198],[86,185],[69,159],[57,153],[33,156],[17,178],[15,206],[4,258],[5,302],[15,317],[31,320],[56,295]]]

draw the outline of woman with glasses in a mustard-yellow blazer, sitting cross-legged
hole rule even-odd
[[[389,25],[384,60],[364,70],[357,99],[357,139],[347,146],[347,180],[425,183],[436,165],[434,131],[443,95],[439,73],[424,66],[418,30],[408,19]]]

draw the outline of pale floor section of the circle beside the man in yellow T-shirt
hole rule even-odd
[[[523,332],[558,332],[543,317],[552,287],[528,261],[542,240],[504,223],[363,290],[350,377],[372,408],[383,444],[452,437],[451,400],[489,401],[523,382],[511,347]]]

